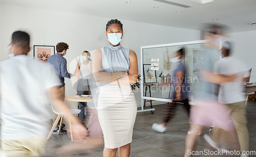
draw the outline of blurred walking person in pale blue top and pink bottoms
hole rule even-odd
[[[225,27],[219,24],[207,24],[204,28],[204,38],[208,40],[202,47],[205,52],[204,64],[200,72],[202,79],[199,96],[195,97],[195,105],[190,109],[190,128],[185,140],[184,156],[192,156],[189,151],[196,147],[198,135],[202,133],[203,126],[212,126],[231,130],[231,120],[228,108],[220,104],[215,96],[214,84],[220,85],[225,82],[233,82],[237,75],[223,75],[214,72],[214,65],[219,60],[220,41],[225,38]]]

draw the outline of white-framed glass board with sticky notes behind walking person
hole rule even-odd
[[[178,63],[172,63],[171,59],[175,53],[184,48],[184,64],[186,67],[186,82],[190,92],[189,98],[197,95],[201,87],[200,70],[204,64],[204,44],[206,40],[152,45],[141,47],[141,76],[143,99],[172,101],[174,97],[174,70]],[[216,60],[220,58],[219,53],[215,53]]]

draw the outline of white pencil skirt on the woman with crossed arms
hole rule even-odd
[[[130,85],[100,87],[98,118],[106,148],[132,142],[137,103]]]

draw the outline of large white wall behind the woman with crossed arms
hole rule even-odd
[[[0,61],[8,59],[7,46],[11,41],[11,34],[16,30],[24,30],[31,35],[32,49],[29,56],[33,57],[33,45],[56,45],[58,42],[66,42],[70,46],[65,56],[69,64],[83,50],[93,50],[108,44],[105,37],[105,24],[110,19],[54,10],[0,5]],[[122,46],[136,52],[139,66],[140,46],[200,40],[200,32],[195,30],[119,20],[123,23],[124,29]],[[65,83],[66,95],[76,93],[69,79],[66,79]],[[135,96],[140,106],[140,92],[136,92]]]

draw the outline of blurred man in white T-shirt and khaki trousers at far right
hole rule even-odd
[[[249,134],[247,129],[246,106],[245,106],[245,78],[249,76],[248,68],[239,59],[232,57],[232,44],[226,41],[222,45],[222,59],[215,64],[215,71],[223,75],[239,74],[235,82],[222,83],[219,88],[218,100],[226,104],[234,127],[237,130],[241,152],[249,151]],[[219,128],[214,128],[211,138],[204,135],[205,140],[214,148],[218,149],[216,142],[220,140]],[[248,156],[243,154],[242,156]]]

